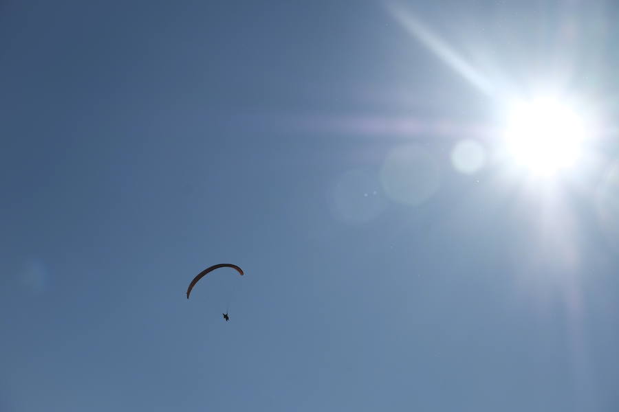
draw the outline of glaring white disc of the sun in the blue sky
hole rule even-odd
[[[580,157],[587,130],[583,117],[554,98],[514,104],[505,131],[510,156],[538,175],[553,175]]]

